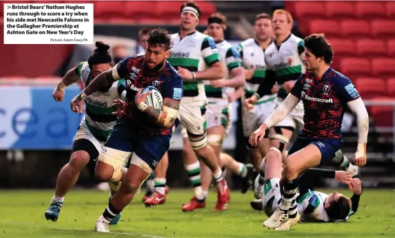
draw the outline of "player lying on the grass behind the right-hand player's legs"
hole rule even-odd
[[[278,208],[281,202],[281,160],[267,158],[265,167],[265,188],[262,193],[263,210],[268,217]],[[323,177],[334,178],[336,182],[348,184],[353,195],[345,197],[341,193],[325,194],[314,191],[314,182]],[[301,186],[297,201],[297,210],[303,221],[345,221],[358,210],[362,193],[362,184],[358,176],[352,177],[345,171],[331,171],[325,169],[307,169],[300,180]],[[288,227],[276,228],[287,230]]]

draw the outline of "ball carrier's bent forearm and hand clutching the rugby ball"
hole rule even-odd
[[[152,91],[148,91],[144,94],[141,94],[141,91],[143,91],[143,89],[140,89],[136,96],[134,96],[134,103],[136,104],[137,108],[140,111],[146,113],[150,120],[156,122],[157,125],[167,129],[172,128],[180,108],[180,100],[173,98],[163,98],[162,110],[156,109],[154,107],[148,106],[144,102],[145,97],[151,94]]]

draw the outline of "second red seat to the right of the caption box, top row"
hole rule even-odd
[[[128,1],[125,5],[125,17],[139,20],[140,18],[159,17],[156,10],[157,1]]]

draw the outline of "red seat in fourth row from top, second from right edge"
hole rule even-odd
[[[370,74],[370,61],[366,58],[341,58],[341,72],[349,78],[365,77]]]

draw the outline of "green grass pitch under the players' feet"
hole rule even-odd
[[[70,192],[56,223],[44,217],[52,195],[53,191],[0,191],[0,237],[395,237],[394,190],[365,189],[358,212],[346,223],[303,223],[274,231],[263,228],[264,213],[250,208],[252,192],[233,191],[228,210],[214,213],[216,194],[210,191],[205,210],[183,213],[181,204],[192,191],[173,189],[167,203],[156,208],[145,208],[139,195],[110,234],[92,231],[108,204],[108,193]]]

